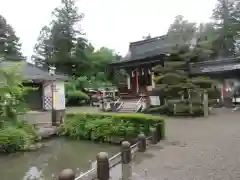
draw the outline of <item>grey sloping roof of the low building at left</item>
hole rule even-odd
[[[0,63],[0,68],[12,67],[17,63],[19,62],[3,61]],[[56,74],[52,77],[48,71],[27,62],[23,62],[21,71],[23,78],[30,80],[67,80],[68,78],[61,74]]]

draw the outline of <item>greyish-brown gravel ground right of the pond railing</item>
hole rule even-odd
[[[134,163],[149,180],[240,179],[240,112],[167,120],[167,139]]]

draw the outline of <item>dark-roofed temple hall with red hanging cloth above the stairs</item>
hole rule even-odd
[[[170,43],[166,36],[130,43],[128,55],[108,67],[112,73],[120,69],[127,72],[127,86],[119,87],[120,93],[131,97],[148,96],[155,87],[152,68],[163,65],[165,57],[174,46],[176,43]]]

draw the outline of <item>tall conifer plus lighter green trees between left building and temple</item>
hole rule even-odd
[[[92,85],[107,82],[105,68],[119,56],[112,49],[95,49],[88,42],[81,28],[84,14],[79,13],[76,2],[61,0],[52,14],[52,22],[40,32],[33,61],[40,66],[54,65],[74,79],[87,77]]]

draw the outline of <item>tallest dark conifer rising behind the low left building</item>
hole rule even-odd
[[[87,40],[83,38],[80,23],[84,14],[79,14],[74,0],[61,0],[61,7],[53,11],[50,27],[40,33],[34,61],[42,66],[54,65],[69,75],[80,72],[86,60],[84,49]]]

